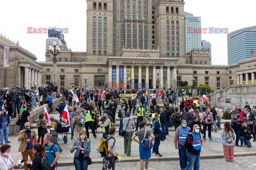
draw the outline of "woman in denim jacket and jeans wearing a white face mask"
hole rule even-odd
[[[73,147],[70,149],[70,153],[75,152],[74,165],[76,170],[87,170],[88,158],[91,151],[91,141],[86,138],[86,131],[79,132],[79,139],[74,142]]]

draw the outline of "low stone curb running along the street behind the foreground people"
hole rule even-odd
[[[255,152],[241,152],[238,154],[234,154],[234,157],[239,157],[239,156],[255,156],[256,155],[256,151]],[[212,154],[212,155],[203,155],[200,157],[200,159],[220,159],[223,158],[224,155],[223,154]],[[102,158],[103,159],[103,158]],[[102,159],[92,159],[92,164],[102,164]],[[174,156],[174,157],[153,157],[150,158],[150,161],[171,161],[171,160],[179,160],[178,156]],[[134,157],[134,158],[123,158],[121,160],[121,162],[139,162],[140,158],[139,157]],[[59,163],[58,166],[74,166],[73,162],[70,163]]]

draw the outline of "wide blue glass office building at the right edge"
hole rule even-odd
[[[228,64],[250,58],[256,50],[256,25],[228,33]]]

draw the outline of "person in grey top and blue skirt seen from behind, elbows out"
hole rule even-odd
[[[147,149],[141,145],[141,141],[144,138],[145,131],[146,131],[146,122],[142,121],[140,123],[140,130],[136,131],[132,136],[132,140],[139,143],[140,170],[144,170],[144,167],[148,169],[149,158],[151,157],[151,149]],[[137,136],[139,140],[135,139]],[[149,139],[149,137],[151,137],[151,142],[153,142],[155,139],[155,136],[152,132],[147,130],[145,139]],[[144,162],[145,162],[145,166],[144,166]]]

